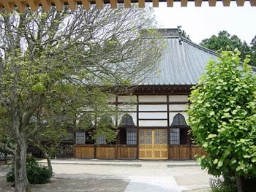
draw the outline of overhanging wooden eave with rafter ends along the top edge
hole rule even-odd
[[[96,4],[98,9],[102,9],[104,4],[110,4],[110,7],[115,9],[117,4],[124,4],[124,7],[129,8],[132,3],[138,3],[138,7],[143,8],[146,2],[151,2],[153,7],[159,7],[159,2],[166,2],[167,7],[173,7],[173,2],[179,2],[181,7],[187,7],[188,1],[195,2],[195,7],[201,7],[203,1],[207,1],[210,7],[215,7],[217,1],[222,1],[224,7],[229,7],[230,1],[236,1],[238,7],[243,7],[245,1],[249,1],[251,6],[256,6],[256,0],[0,0],[0,11],[5,9],[7,12],[12,12],[15,7],[20,12],[24,12],[27,7],[37,11],[39,6],[45,11],[51,6],[61,10],[64,4],[72,10],[75,10],[78,4],[83,4],[84,9],[89,9],[91,4]]]

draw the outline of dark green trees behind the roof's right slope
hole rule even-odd
[[[252,51],[252,47],[247,45],[244,41],[242,42],[236,35],[230,35],[227,31],[219,31],[218,35],[212,35],[208,39],[203,39],[200,42],[200,45],[207,47],[210,50],[214,51],[223,51],[223,50],[235,50],[238,49],[241,51],[241,58],[246,58],[246,55],[252,55],[252,59],[249,64],[256,66],[255,53]],[[252,45],[252,44],[251,44]]]

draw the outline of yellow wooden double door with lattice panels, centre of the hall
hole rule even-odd
[[[167,159],[167,130],[140,129],[139,158]]]

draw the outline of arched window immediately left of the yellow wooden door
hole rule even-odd
[[[121,118],[118,131],[118,144],[137,145],[137,129],[132,116],[125,114]]]

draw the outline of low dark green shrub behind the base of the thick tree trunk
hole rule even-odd
[[[52,172],[46,167],[40,166],[36,158],[31,155],[27,156],[26,169],[28,180],[31,184],[48,183],[52,177]],[[13,183],[14,181],[14,167],[12,166],[10,172],[7,173],[7,182]]]

